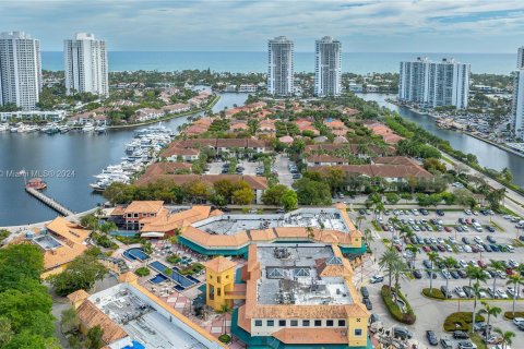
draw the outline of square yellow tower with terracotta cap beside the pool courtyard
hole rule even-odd
[[[235,267],[237,264],[226,257],[218,256],[204,263],[205,266],[205,304],[215,311],[225,305],[233,308],[231,293],[235,291]],[[228,294],[226,294],[228,293]]]

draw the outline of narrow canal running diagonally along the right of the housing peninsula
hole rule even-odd
[[[524,158],[505,152],[501,148],[492,146],[486,142],[472,137],[467,134],[455,132],[451,130],[439,129],[434,123],[434,119],[430,116],[419,115],[405,107],[397,107],[388,103],[386,98],[394,98],[394,95],[386,94],[360,94],[359,97],[366,100],[374,100],[380,106],[386,107],[391,110],[397,111],[402,117],[409,121],[416,122],[426,131],[437,135],[438,137],[450,142],[451,146],[464,153],[475,154],[478,163],[483,167],[501,170],[508,167],[513,173],[513,181],[524,186]]]

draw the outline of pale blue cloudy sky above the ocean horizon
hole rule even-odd
[[[347,52],[514,52],[523,0],[0,0],[0,32],[24,31],[41,50],[75,32],[114,51],[264,51],[285,35],[312,51],[325,35]]]

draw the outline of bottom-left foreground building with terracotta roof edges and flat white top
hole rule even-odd
[[[119,279],[121,284],[92,296],[83,290],[68,296],[84,335],[102,327],[104,348],[227,348],[139,285],[134,274]]]

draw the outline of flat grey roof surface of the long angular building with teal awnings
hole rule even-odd
[[[287,214],[224,214],[200,220],[192,226],[216,234],[277,227],[312,227],[349,232],[340,210],[333,207],[300,208]]]

